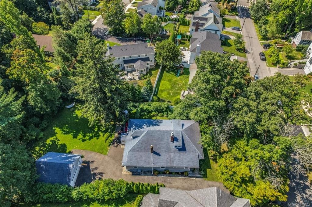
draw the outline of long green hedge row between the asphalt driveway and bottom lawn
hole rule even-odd
[[[124,180],[97,180],[72,188],[67,185],[38,182],[25,197],[27,203],[64,203],[75,200],[117,200],[129,193],[159,193],[163,184],[134,183]]]

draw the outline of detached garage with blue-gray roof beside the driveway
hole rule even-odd
[[[75,186],[82,163],[80,154],[48,152],[36,160],[39,182]]]

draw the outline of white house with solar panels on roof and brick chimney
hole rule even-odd
[[[222,17],[217,17],[214,13],[207,16],[192,16],[190,35],[197,31],[209,31],[220,36],[222,29]]]

